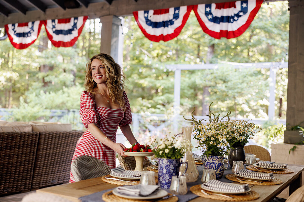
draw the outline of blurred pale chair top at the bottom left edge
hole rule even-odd
[[[67,200],[65,198],[55,196],[53,194],[47,194],[47,193],[30,193],[24,196],[21,200],[21,202],[71,202],[70,200]]]

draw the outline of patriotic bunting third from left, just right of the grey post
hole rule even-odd
[[[137,25],[151,41],[169,41],[179,35],[193,6],[133,12]]]

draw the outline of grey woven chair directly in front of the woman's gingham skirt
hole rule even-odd
[[[76,157],[71,164],[71,172],[76,182],[110,174],[110,167],[102,160],[82,155]]]

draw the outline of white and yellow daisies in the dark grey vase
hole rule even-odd
[[[230,121],[227,123],[227,130],[230,131],[226,140],[230,145],[239,143],[242,146],[247,144],[253,136],[262,128],[249,120]]]

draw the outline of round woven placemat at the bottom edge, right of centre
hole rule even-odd
[[[244,200],[255,200],[260,197],[260,194],[255,191],[249,191],[244,194],[225,194],[227,196],[233,197],[233,198],[228,198],[219,195],[213,195],[212,194],[213,192],[204,190],[207,194],[210,194],[210,195],[206,195],[203,194],[201,190],[202,188],[200,184],[190,187],[190,191],[192,191],[193,194],[196,194],[200,197],[211,198],[215,200],[244,201]]]

